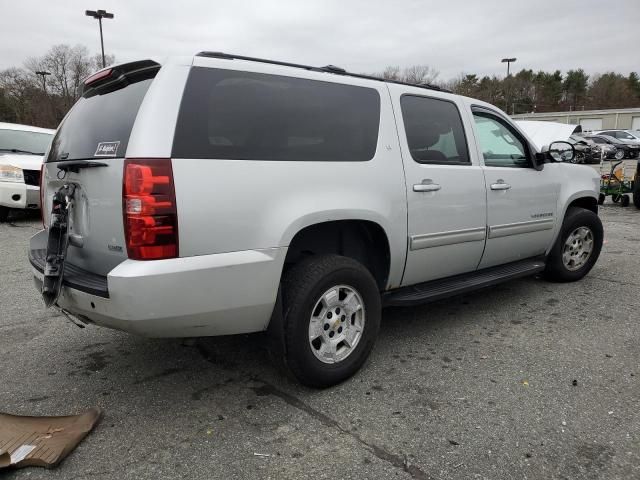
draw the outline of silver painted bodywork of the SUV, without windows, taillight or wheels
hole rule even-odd
[[[67,287],[59,305],[99,325],[146,336],[192,337],[264,330],[276,302],[288,246],[305,227],[367,220],[385,231],[391,252],[386,290],[544,254],[567,205],[598,195],[592,169],[566,163],[541,171],[485,167],[471,113],[484,102],[418,87],[242,60],[174,58],[138,112],[127,158],[169,158],[192,65],[286,75],[374,88],[381,115],[368,162],[172,159],[180,258],[127,259],[122,222],[123,159],[108,168],[56,176],[45,166],[45,212],[62,182],[80,191],[73,212],[82,248],[68,261],[106,275],[110,298]],[[471,165],[416,163],[409,154],[400,96],[446,98],[460,110]],[[511,122],[517,129],[517,126]],[[507,183],[507,190],[491,185]],[[438,185],[439,188],[431,186]],[[426,185],[418,186],[415,185]],[[416,191],[417,190],[417,191]],[[550,215],[536,218],[536,215]],[[46,230],[31,248],[44,248]],[[34,270],[36,277],[41,275]],[[92,303],[93,302],[93,303]]]

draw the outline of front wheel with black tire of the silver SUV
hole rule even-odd
[[[591,210],[570,207],[549,256],[544,276],[555,282],[575,282],[593,268],[600,251],[604,230]]]

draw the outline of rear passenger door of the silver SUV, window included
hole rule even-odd
[[[486,190],[475,148],[467,145],[466,139],[473,137],[468,135],[468,116],[460,115],[465,106],[437,92],[403,95],[394,85],[390,92],[407,184],[402,285],[474,271],[486,238]],[[447,118],[454,125],[450,131],[442,126]],[[440,129],[436,136],[429,133],[434,128]]]

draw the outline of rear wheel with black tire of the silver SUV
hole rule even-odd
[[[314,255],[283,278],[285,363],[310,387],[356,373],[380,327],[381,301],[371,273],[339,255]]]

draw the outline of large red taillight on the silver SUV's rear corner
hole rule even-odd
[[[160,260],[178,256],[178,212],[171,159],[125,159],[122,211],[129,258]]]

